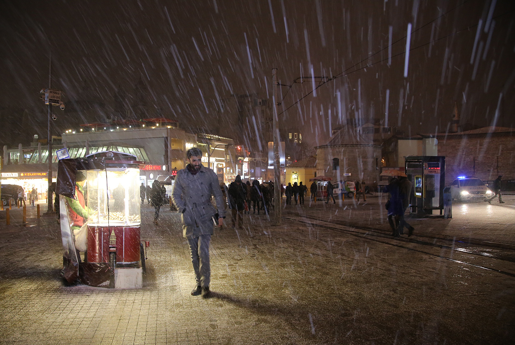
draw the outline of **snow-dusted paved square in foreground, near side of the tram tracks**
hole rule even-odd
[[[324,205],[314,212],[336,212]],[[350,212],[344,207],[338,213]],[[365,220],[366,212],[352,219]],[[213,297],[202,299],[190,295],[194,280],[178,214],[165,208],[155,226],[145,205],[142,239],[151,246],[144,287],[65,286],[57,222],[35,219],[35,207],[27,214],[24,225],[21,210],[11,210],[6,226],[0,212],[2,344],[515,342],[509,260],[399,246],[292,220],[271,227],[264,215],[246,215],[244,229],[216,230]],[[443,220],[420,222],[436,221]]]

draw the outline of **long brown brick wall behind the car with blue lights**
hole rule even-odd
[[[447,185],[457,176],[515,179],[515,133],[438,136],[438,155],[445,156]]]

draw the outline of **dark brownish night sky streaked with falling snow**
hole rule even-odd
[[[493,2],[6,1],[0,142],[16,146],[44,130],[39,90],[48,86],[50,50],[52,87],[67,103],[64,112],[54,107],[60,129],[109,119],[116,93],[134,103],[141,78],[152,112],[186,128],[245,136],[249,128],[238,127],[224,104],[232,94],[271,98],[273,67],[285,85],[300,76],[329,77],[286,112],[313,83],[280,90],[289,89],[279,106],[282,125],[300,128],[313,145],[347,118],[384,121],[387,94],[388,124],[406,135],[445,132],[455,102],[464,129],[515,127],[515,3]],[[408,23],[416,31],[405,78]],[[398,42],[389,62],[390,37]],[[73,101],[97,102],[103,113],[88,118],[91,112]],[[232,123],[225,130],[215,126],[221,118]]]

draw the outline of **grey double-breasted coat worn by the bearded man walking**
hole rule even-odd
[[[224,197],[213,170],[201,165],[200,171],[195,175],[187,168],[177,172],[171,198],[179,212],[182,212],[184,238],[194,239],[202,234],[213,234],[211,216],[217,211],[211,203],[211,195],[215,197],[218,217],[224,217]]]

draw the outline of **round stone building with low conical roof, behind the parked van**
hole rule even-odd
[[[379,181],[381,145],[359,129],[345,126],[325,144],[317,146],[317,176],[332,181],[359,180],[369,186]]]

